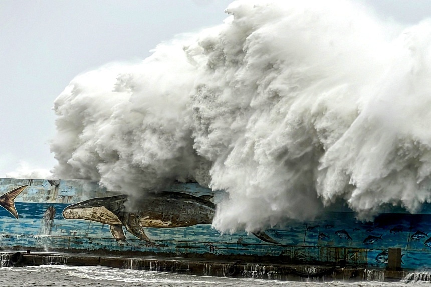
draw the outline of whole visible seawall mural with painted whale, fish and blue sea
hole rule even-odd
[[[405,269],[431,267],[431,208],[401,209],[360,222],[340,208],[314,221],[247,234],[211,228],[223,191],[196,183],[148,194],[128,212],[126,195],[83,180],[0,179],[0,247],[4,250],[133,252],[205,258],[273,258],[280,263],[384,268],[401,248]],[[260,257],[259,257],[260,256]]]

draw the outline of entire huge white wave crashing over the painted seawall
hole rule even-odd
[[[140,199],[174,181],[225,190],[222,232],[340,200],[361,220],[431,201],[431,21],[403,27],[344,1],[226,13],[73,79],[54,106],[55,175]]]

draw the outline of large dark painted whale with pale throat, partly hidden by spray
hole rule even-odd
[[[212,224],[215,204],[213,196],[193,196],[181,192],[147,193],[137,211],[128,212],[124,206],[127,195],[97,197],[67,206],[65,219],[84,219],[108,224],[117,241],[125,242],[122,226],[139,239],[149,241],[145,227],[176,228],[196,224]],[[252,233],[265,242],[280,244],[265,232]]]

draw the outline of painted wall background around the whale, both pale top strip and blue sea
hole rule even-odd
[[[115,240],[109,225],[64,219],[62,211],[73,203],[115,193],[97,184],[79,180],[0,179],[0,194],[29,185],[15,199],[16,219],[0,208],[0,247],[3,249],[147,252],[171,256],[273,256],[284,263],[335,263],[385,267],[388,248],[402,249],[402,267],[431,267],[431,209],[421,214],[392,210],[374,222],[363,223],[348,210],[328,211],[314,221],[285,222],[283,228],[265,232],[281,245],[263,242],[245,232],[220,234],[209,224],[179,228],[145,228],[151,242],[126,231],[126,243]],[[195,196],[213,195],[197,184],[175,184],[171,191]],[[47,210],[55,214],[49,216]]]

